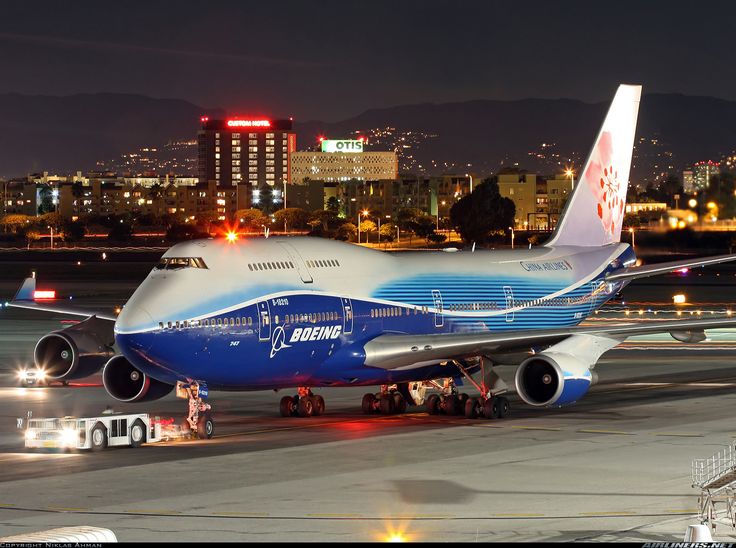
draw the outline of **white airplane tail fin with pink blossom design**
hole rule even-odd
[[[548,247],[621,241],[641,86],[620,85]]]

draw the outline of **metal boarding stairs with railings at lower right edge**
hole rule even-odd
[[[698,512],[701,523],[715,530],[716,523],[736,529],[736,445],[692,465],[693,487],[700,489]]]

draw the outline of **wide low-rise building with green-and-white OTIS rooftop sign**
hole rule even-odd
[[[379,181],[398,176],[396,152],[366,151],[363,139],[323,139],[321,149],[291,153],[291,183]]]

